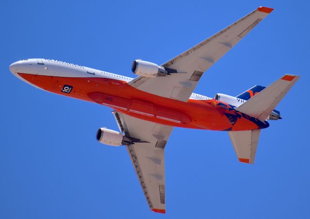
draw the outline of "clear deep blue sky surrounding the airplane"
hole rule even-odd
[[[9,71],[52,58],[134,77],[247,15],[275,8],[200,80],[196,93],[238,95],[285,73],[300,80],[261,132],[254,165],[239,163],[224,131],[175,128],[166,146],[167,214],[149,210],[108,107],[31,87]],[[310,218],[308,1],[31,1],[0,7],[0,218]]]

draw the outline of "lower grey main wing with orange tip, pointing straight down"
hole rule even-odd
[[[152,211],[166,213],[164,149],[173,129],[154,122],[112,112],[120,131],[148,143],[127,146],[146,201]]]

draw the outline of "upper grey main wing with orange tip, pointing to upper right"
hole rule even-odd
[[[177,70],[165,77],[140,76],[129,84],[158,96],[187,102],[202,74],[263,20],[272,8],[259,7],[212,37],[162,64]]]

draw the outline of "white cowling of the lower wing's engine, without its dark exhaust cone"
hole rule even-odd
[[[110,145],[110,146],[121,146],[124,145],[124,135],[118,131],[113,131],[106,128],[100,128],[97,131],[96,139],[98,142]]]

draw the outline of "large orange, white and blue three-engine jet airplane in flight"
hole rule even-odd
[[[162,65],[137,59],[136,78],[47,58],[23,59],[9,68],[36,88],[112,108],[119,131],[100,128],[96,139],[127,148],[147,204],[166,213],[164,149],[173,127],[227,131],[238,160],[252,164],[267,120],[281,119],[275,107],[298,75],[285,74],[236,97],[193,93],[202,74],[272,11],[259,7]]]

